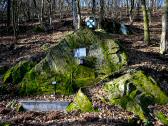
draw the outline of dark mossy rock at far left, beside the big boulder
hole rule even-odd
[[[3,83],[18,84],[22,81],[24,75],[34,66],[35,62],[29,60],[20,61],[3,75]]]

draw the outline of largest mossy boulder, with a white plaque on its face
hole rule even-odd
[[[96,84],[127,64],[127,56],[117,42],[88,29],[78,30],[62,39],[47,56],[29,71],[20,83],[21,94],[51,93],[57,81],[57,93],[71,94],[80,87]],[[74,51],[86,48],[84,63]]]

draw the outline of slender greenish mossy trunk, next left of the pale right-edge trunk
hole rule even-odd
[[[144,42],[149,44],[150,42],[150,32],[149,32],[149,19],[146,10],[145,0],[141,0],[142,3],[142,11],[143,11],[143,19],[144,19]]]

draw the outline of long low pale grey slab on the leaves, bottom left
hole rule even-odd
[[[69,102],[66,101],[19,101],[26,111],[66,111]]]

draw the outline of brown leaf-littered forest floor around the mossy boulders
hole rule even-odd
[[[134,22],[131,26],[134,30],[132,35],[112,34],[112,38],[120,40],[126,50],[129,62],[128,67],[142,69],[151,75],[168,94],[168,54],[159,54],[159,42],[161,35],[161,15],[153,15],[150,24],[151,42],[149,46],[143,42],[143,23]],[[62,30],[63,29],[63,30]],[[23,58],[34,55],[41,55],[45,48],[56,44],[62,37],[71,33],[72,30],[66,27],[51,33],[28,34],[22,36],[17,41],[15,47],[12,45],[11,36],[0,37],[0,66],[12,66]],[[44,53],[45,55],[45,53]],[[2,75],[0,75],[2,76]],[[0,82],[1,85],[1,82]],[[100,112],[93,113],[65,113],[65,112],[16,112],[6,109],[8,101],[20,99],[16,96],[0,96],[0,122],[10,122],[13,125],[127,125],[130,118],[137,118],[133,113],[127,112],[115,106],[103,104],[99,99],[102,95],[99,84],[94,88],[88,89],[88,95],[92,102],[101,108]],[[74,96],[58,96],[57,100],[72,101]],[[23,99],[23,98],[22,98]],[[34,99],[25,97],[24,99]],[[51,96],[36,96],[35,99],[53,99]],[[155,106],[168,116],[168,106]],[[161,125],[159,121],[155,125]]]

